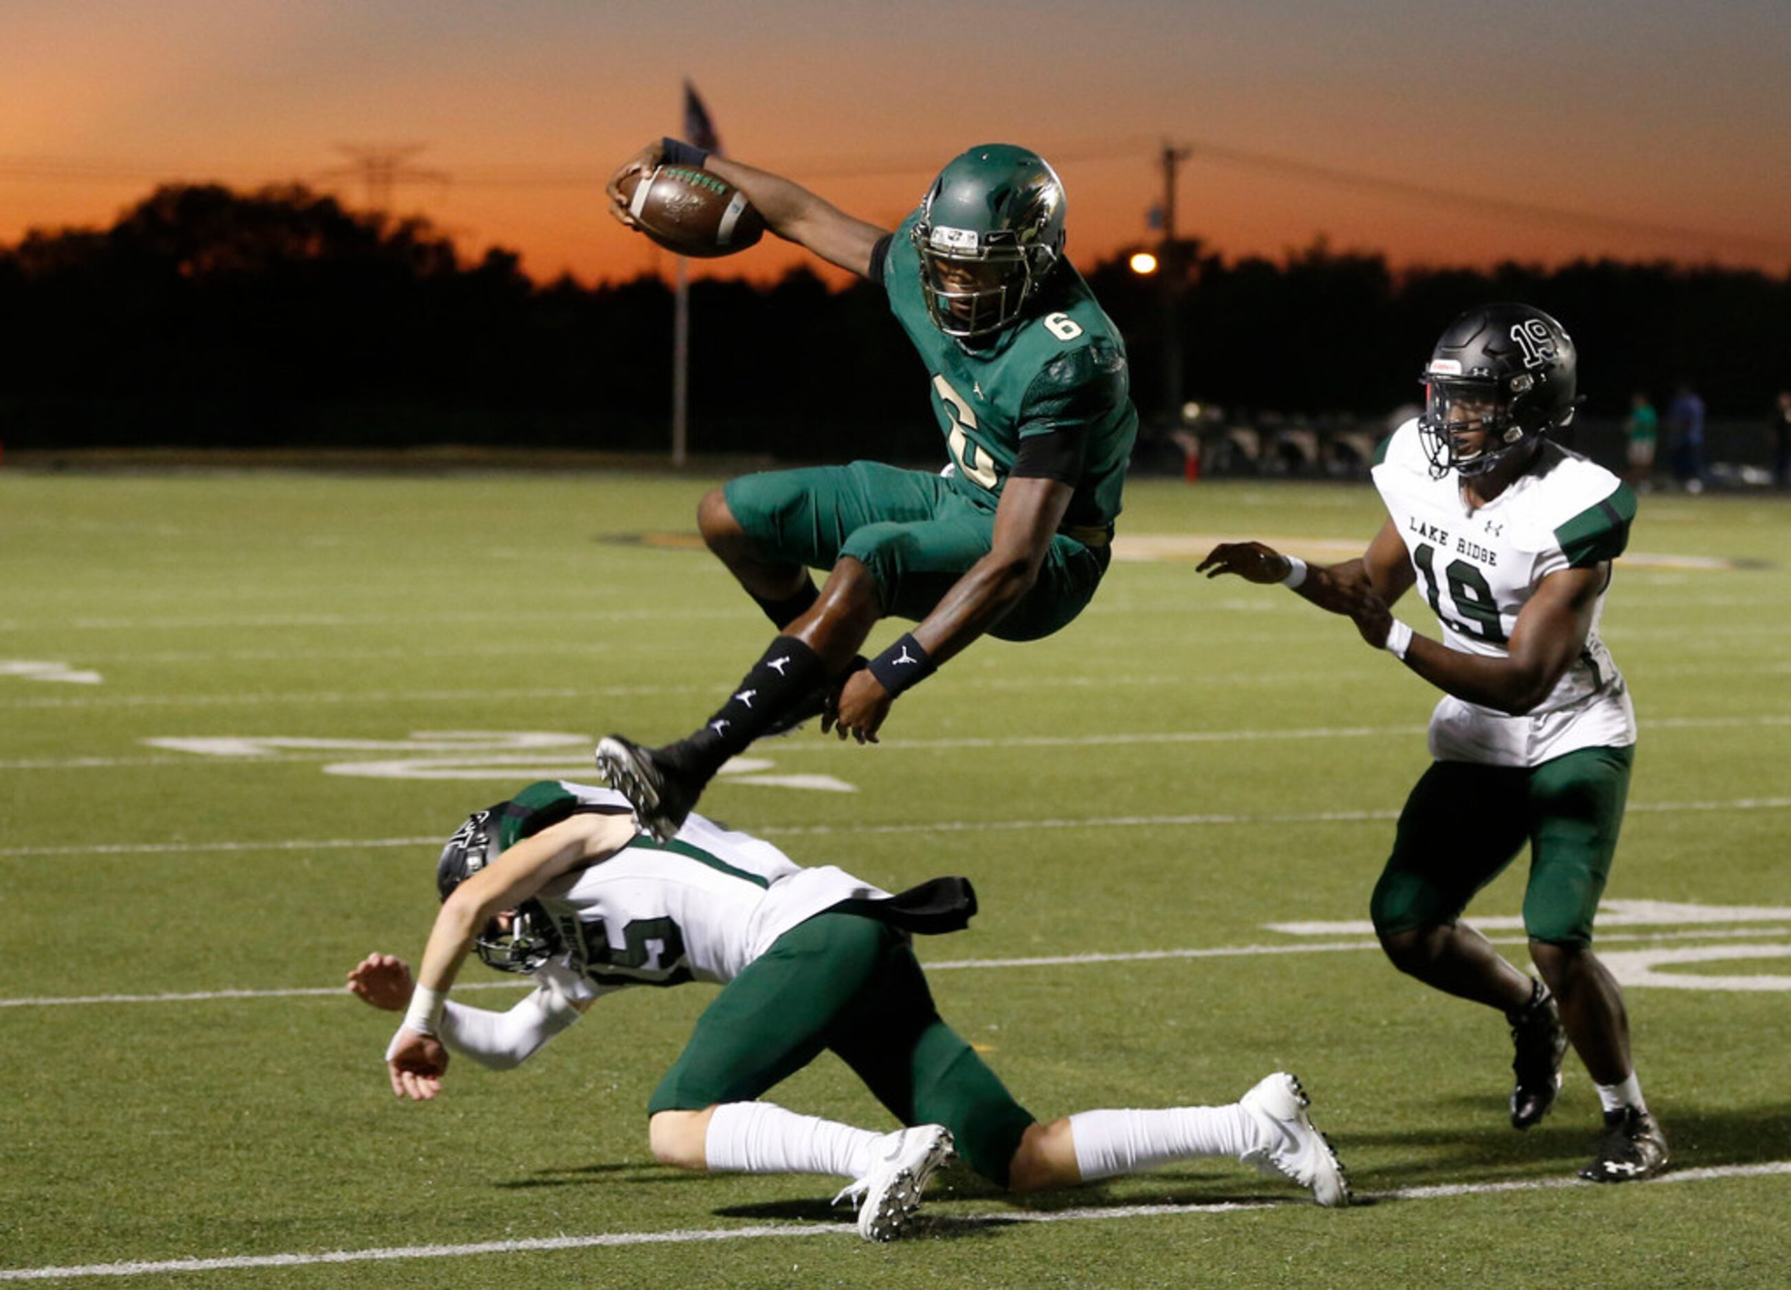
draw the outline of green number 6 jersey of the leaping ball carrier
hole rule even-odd
[[[955,471],[953,488],[994,508],[1023,440],[1053,435],[1053,469],[1075,488],[1060,531],[1103,546],[1137,438],[1125,342],[1067,261],[1057,265],[1026,317],[976,347],[944,335],[921,292],[912,233],[919,211],[888,242],[881,276],[890,311],[921,351],[933,408]]]

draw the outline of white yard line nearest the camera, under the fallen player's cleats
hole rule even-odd
[[[1687,1168],[1676,1174],[1664,1174],[1650,1183],[1632,1183],[1632,1186],[1666,1186],[1671,1183],[1710,1183],[1741,1177],[1784,1177],[1791,1174],[1791,1159],[1768,1161],[1764,1165],[1716,1165],[1710,1168]],[[1513,1183],[1460,1183],[1444,1186],[1410,1186],[1392,1192],[1363,1193],[1365,1201],[1453,1201],[1472,1195],[1504,1195],[1512,1192],[1555,1192],[1562,1188],[1596,1188],[1598,1183],[1581,1183],[1571,1177],[1524,1179]],[[940,1213],[946,1206],[935,1204],[930,1215],[940,1227],[1003,1227],[1008,1224],[1055,1224],[1055,1222],[1123,1222],[1128,1218],[1184,1218],[1216,1217],[1227,1213],[1247,1213],[1259,1209],[1286,1209],[1304,1206],[1304,1201],[1214,1201],[1205,1204],[1130,1204],[1112,1208],[1084,1209],[1014,1209],[1008,1213],[985,1213],[956,1217]],[[1338,1222],[1347,1222],[1338,1218]],[[532,1240],[493,1240],[467,1245],[383,1245],[358,1251],[322,1251],[315,1254],[240,1254],[233,1258],[177,1258],[134,1263],[82,1263],[73,1267],[34,1267],[0,1269],[0,1281],[52,1281],[82,1276],[163,1276],[170,1272],[233,1272],[263,1267],[313,1267],[324,1263],[389,1263],[394,1260],[424,1258],[471,1258],[476,1254],[534,1254],[566,1249],[616,1249],[625,1245],[697,1245],[704,1242],[736,1240],[784,1240],[790,1236],[849,1236],[856,1235],[854,1224],[758,1224],[752,1227],[681,1227],[673,1231],[618,1231],[591,1233],[586,1236],[537,1236]]]

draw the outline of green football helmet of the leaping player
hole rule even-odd
[[[938,172],[913,247],[938,329],[990,336],[1021,317],[1064,254],[1064,181],[1035,152],[978,145]]]

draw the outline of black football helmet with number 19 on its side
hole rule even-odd
[[[1504,456],[1572,420],[1580,356],[1567,329],[1528,304],[1483,304],[1449,324],[1424,365],[1418,419],[1431,474],[1485,474]],[[1472,408],[1470,417],[1461,412]],[[1451,419],[1451,410],[1461,410]],[[1488,429],[1470,456],[1451,429]]]

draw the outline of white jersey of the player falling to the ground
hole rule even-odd
[[[561,782],[584,805],[627,810],[611,789]],[[534,975],[575,1002],[625,986],[727,982],[797,923],[888,893],[831,864],[804,868],[770,843],[691,814],[670,843],[636,836],[539,896],[566,952]]]

